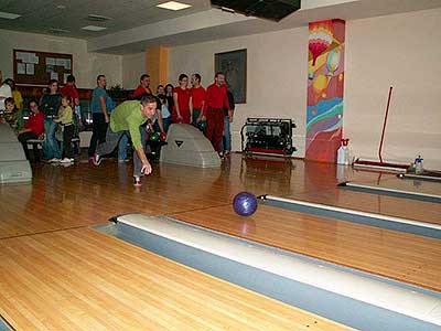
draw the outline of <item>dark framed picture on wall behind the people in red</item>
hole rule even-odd
[[[215,72],[223,72],[236,104],[247,102],[247,50],[214,54]]]

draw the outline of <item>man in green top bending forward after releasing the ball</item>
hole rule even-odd
[[[117,106],[110,115],[110,126],[106,132],[106,141],[98,146],[94,154],[94,164],[99,166],[103,156],[110,153],[118,146],[122,134],[128,131],[136,151],[133,153],[135,185],[141,185],[141,175],[150,174],[152,171],[142,148],[139,129],[148,120],[152,125],[157,120],[157,99],[153,96],[146,95],[141,100],[123,102]]]

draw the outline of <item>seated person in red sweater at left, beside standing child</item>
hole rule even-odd
[[[36,100],[29,102],[29,109],[31,114],[24,128],[19,130],[19,141],[23,145],[23,150],[29,160],[28,140],[37,139],[44,132],[44,114],[40,111],[39,104]],[[39,151],[36,146],[33,147],[34,156],[37,156]]]

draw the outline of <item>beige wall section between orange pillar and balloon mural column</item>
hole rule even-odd
[[[304,46],[306,45],[306,46]],[[304,156],[308,28],[278,31],[170,49],[169,82],[180,73],[200,73],[206,87],[214,79],[214,53],[247,49],[247,103],[236,105],[233,149],[240,150],[247,117],[293,118],[298,156]]]

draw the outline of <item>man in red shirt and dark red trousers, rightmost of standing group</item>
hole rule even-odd
[[[225,85],[225,74],[217,72],[214,83],[207,87],[203,117],[207,119],[205,137],[212,142],[217,153],[222,153],[222,136],[224,134],[224,107],[229,109],[227,87]]]

